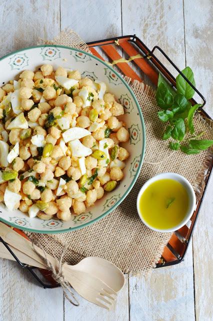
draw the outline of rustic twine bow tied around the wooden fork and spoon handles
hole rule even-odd
[[[38,246],[42,252],[43,252],[43,256],[37,251],[37,249],[35,248],[35,245]],[[49,260],[47,259],[46,257],[46,253],[43,249],[43,247],[38,244],[37,242],[33,242],[32,243],[32,247],[34,249],[34,251],[39,255],[39,257],[44,261],[44,264],[46,265],[46,267],[48,268],[49,271],[52,272],[52,277],[53,279],[58,283],[60,284],[60,286],[62,287],[63,289],[63,294],[65,296],[65,298],[73,305],[75,306],[78,306],[79,305],[79,302],[78,300],[76,299],[74,293],[70,290],[70,287],[71,287],[71,284],[68,282],[68,281],[65,281],[64,280],[64,276],[63,276],[63,272],[62,272],[62,269],[63,269],[63,265],[66,264],[66,262],[62,262],[62,259],[63,259],[63,256],[64,256],[64,253],[66,252],[66,249],[67,249],[67,245],[65,245],[63,247],[63,250],[62,250],[62,253],[61,253],[61,256],[60,256],[60,259],[58,261],[58,266],[57,266],[57,270],[54,268],[54,266],[49,262]],[[66,291],[68,291],[69,295],[66,293]],[[75,302],[74,302],[74,301]]]

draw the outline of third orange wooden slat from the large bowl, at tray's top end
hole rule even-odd
[[[136,56],[139,53],[128,41],[120,42],[119,45],[129,57]],[[158,74],[144,58],[135,59],[134,63],[149,77],[154,85],[157,85]]]

